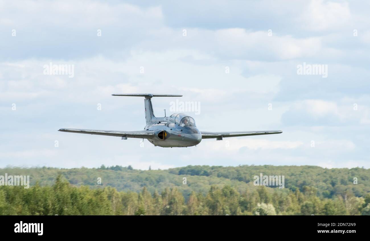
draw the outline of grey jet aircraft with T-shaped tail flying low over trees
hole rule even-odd
[[[114,96],[141,96],[145,97],[145,120],[147,125],[141,131],[118,131],[118,130],[88,130],[66,129],[59,131],[84,133],[91,135],[120,136],[121,139],[143,138],[148,139],[154,146],[161,147],[188,147],[198,145],[202,139],[216,138],[222,140],[225,137],[255,136],[282,133],[281,130],[259,130],[239,132],[207,132],[200,131],[193,118],[184,113],[175,113],[171,116],[155,117],[152,106],[152,97],[168,97],[182,95],[166,94],[112,94]]]

